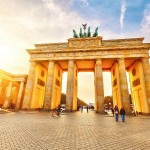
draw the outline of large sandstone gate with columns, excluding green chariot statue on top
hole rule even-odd
[[[132,103],[150,113],[150,43],[144,38],[103,40],[101,36],[70,38],[66,43],[35,44],[27,49],[30,69],[23,109],[53,109],[60,104],[62,74],[68,72],[66,109],[77,109],[78,72],[94,72],[95,109],[104,112],[103,71],[111,72],[114,105],[130,112]],[[87,93],[90,94],[90,93]]]

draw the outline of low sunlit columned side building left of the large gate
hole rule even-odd
[[[22,108],[26,81],[27,75],[0,70],[0,108]]]

